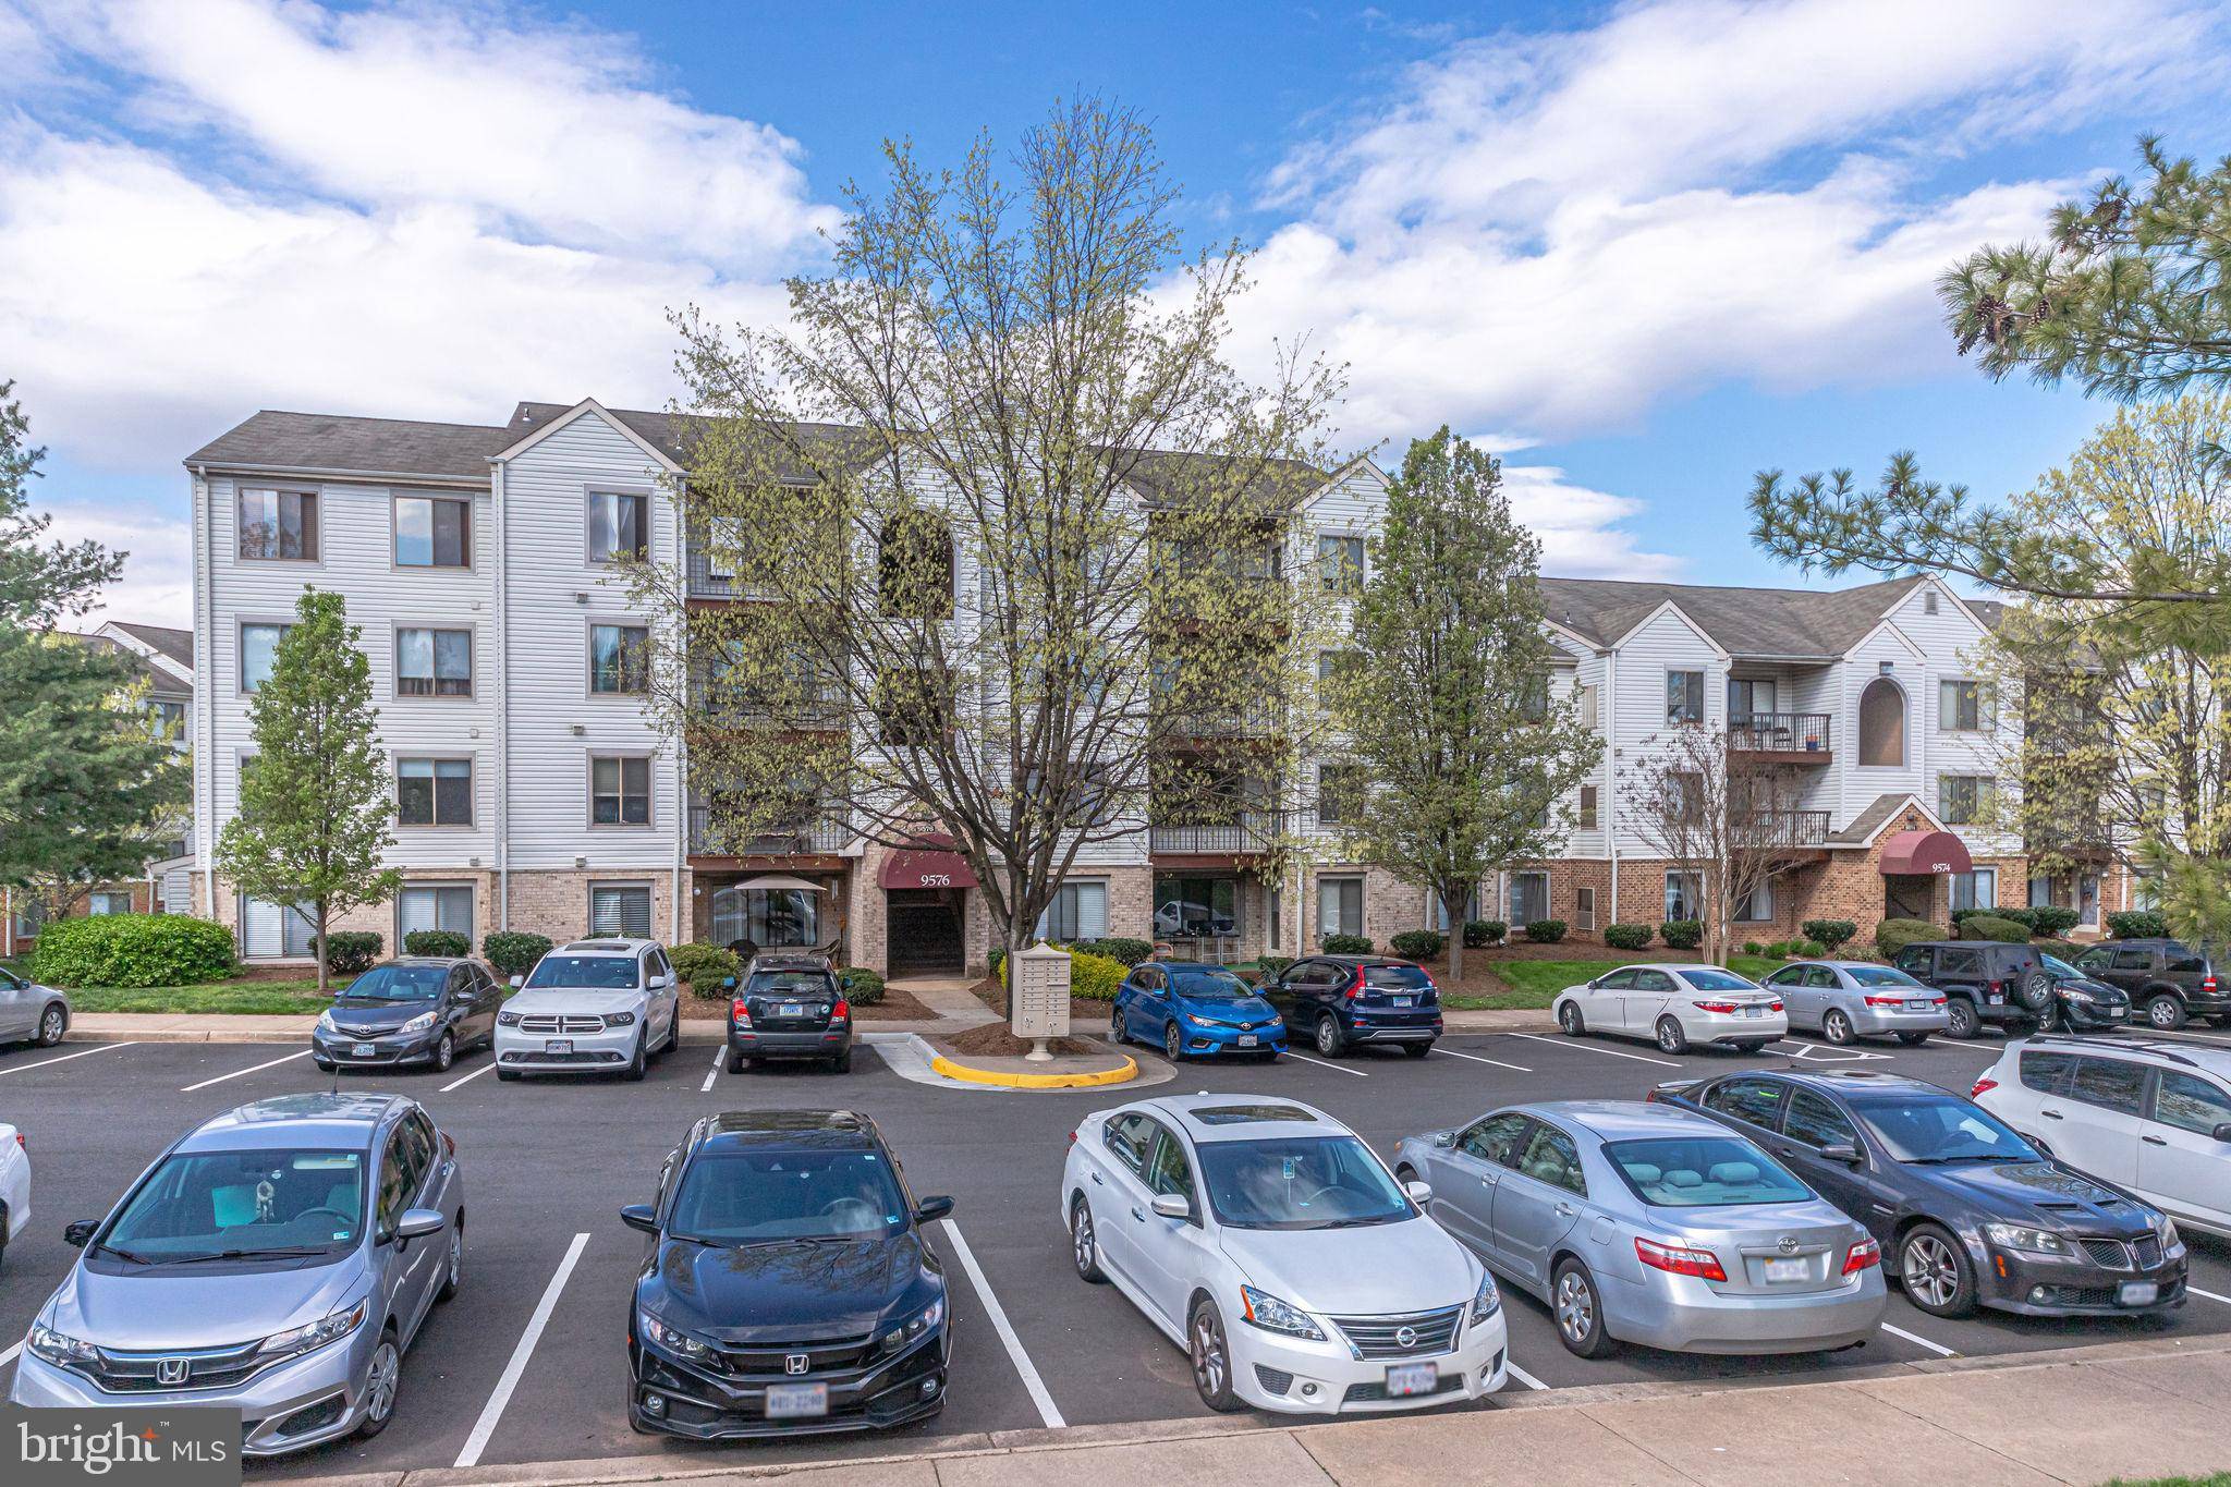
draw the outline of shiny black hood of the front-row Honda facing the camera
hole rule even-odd
[[[919,1284],[921,1260],[912,1233],[734,1248],[665,1240],[643,1300],[663,1322],[732,1347],[861,1338]]]

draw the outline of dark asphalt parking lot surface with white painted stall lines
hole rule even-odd
[[[2193,1032],[2231,1046],[2231,1034]],[[1667,1057],[1644,1043],[1557,1034],[1459,1034],[1430,1059],[1187,1066],[1162,1090],[1281,1092],[1352,1124],[1381,1153],[1417,1130],[1452,1126],[1519,1099],[1626,1097],[1658,1081],[1731,1066],[1865,1061],[1966,1092],[1997,1039],[1838,1050],[1812,1039],[1762,1054]],[[698,1115],[725,1108],[843,1106],[872,1115],[906,1162],[917,1195],[950,1193],[933,1240],[953,1275],[957,1326],[950,1402],[915,1438],[1060,1425],[1205,1416],[1182,1353],[1113,1289],[1071,1271],[1057,1213],[1066,1133],[1124,1090],[1078,1095],[957,1092],[899,1079],[877,1057],[850,1075],[727,1075],[714,1048],[685,1046],[645,1083],[489,1077],[489,1054],[448,1075],[344,1075],[424,1101],[455,1135],[466,1173],[466,1277],[413,1347],[395,1425],[254,1467],[265,1476],[500,1465],[585,1456],[705,1454],[634,1436],[622,1413],[625,1306],[645,1240],[618,1208],[649,1199],[658,1164]],[[1151,1059],[1151,1054],[1140,1054]],[[0,1119],[18,1124],[33,1162],[31,1228],[0,1271],[0,1362],[13,1367],[31,1315],[76,1251],[62,1224],[105,1213],[167,1141],[192,1124],[270,1095],[328,1088],[308,1050],[228,1043],[69,1043],[0,1052]],[[1153,1090],[1142,1090],[1151,1095]],[[2191,1237],[2191,1302],[2164,1335],[2231,1331],[2231,1246]],[[1943,1322],[1892,1289],[1887,1324],[1867,1347],[1800,1358],[1691,1358],[1622,1351],[1582,1362],[1559,1347],[1544,1306],[1506,1300],[1510,1389],[1820,1373],[1950,1353],[2003,1353],[2153,1335],[2144,1322],[2050,1322],[1981,1315]],[[4,1373],[0,1369],[0,1373]],[[904,1442],[904,1436],[901,1440]],[[799,1447],[714,1447],[752,1460],[895,1449],[892,1438]]]

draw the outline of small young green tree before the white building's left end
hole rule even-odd
[[[241,805],[216,838],[216,867],[250,898],[292,905],[317,934],[317,990],[328,985],[335,919],[395,896],[382,867],[395,791],[379,751],[373,669],[337,593],[306,591],[248,702],[254,756]]]

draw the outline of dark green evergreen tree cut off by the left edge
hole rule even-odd
[[[0,883],[60,919],[94,883],[136,876],[187,796],[129,664],[54,626],[91,609],[123,553],[45,540],[29,484],[45,450],[0,383]]]

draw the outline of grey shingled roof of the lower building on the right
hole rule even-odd
[[[1542,609],[1551,622],[1609,647],[1671,602],[1738,660],[1834,660],[1858,644],[1921,582],[1892,577],[1858,589],[1820,591],[1544,577]]]

